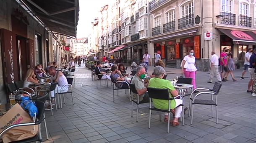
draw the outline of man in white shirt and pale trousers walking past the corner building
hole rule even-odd
[[[214,78],[214,76],[218,79],[219,82],[221,82],[221,77],[219,74],[219,57],[215,54],[214,51],[212,51],[211,70],[208,83],[212,83],[212,79]]]

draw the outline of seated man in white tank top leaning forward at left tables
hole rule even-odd
[[[65,84],[68,84],[67,78],[64,76],[64,74],[61,71],[56,71],[56,68],[54,66],[51,66],[49,68],[49,74],[51,75],[53,82],[57,82],[57,87],[55,89],[55,93],[61,93],[61,92],[67,92],[68,86],[63,87]],[[62,91],[60,92],[60,89],[63,87]],[[51,97],[54,97],[54,92],[52,91]]]

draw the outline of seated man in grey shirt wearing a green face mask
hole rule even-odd
[[[136,75],[135,77],[133,77],[131,84],[134,84],[136,91],[138,93],[139,96],[139,102],[149,102],[149,94],[148,94],[148,90],[147,90],[147,85],[148,84],[144,84],[143,80],[146,76],[146,70],[143,66],[139,66],[137,68],[136,71]],[[135,98],[137,98],[137,95],[135,96]]]

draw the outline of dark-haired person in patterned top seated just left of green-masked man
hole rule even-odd
[[[123,77],[121,72],[118,71],[117,66],[112,66],[111,71],[112,71],[112,73],[110,75],[110,78],[111,78],[112,82],[125,81],[125,78]],[[125,82],[129,83],[128,81],[125,81]],[[129,86],[125,82],[115,83],[115,86],[118,87],[118,89],[128,89]]]

